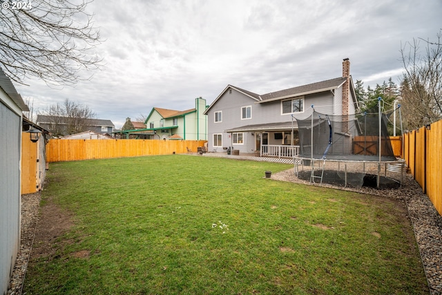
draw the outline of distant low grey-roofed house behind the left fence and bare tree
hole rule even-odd
[[[74,121],[74,122],[73,122]],[[111,120],[78,119],[60,116],[37,115],[37,124],[49,130],[52,136],[65,136],[83,131],[112,134],[115,125]]]

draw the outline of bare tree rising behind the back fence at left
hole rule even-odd
[[[53,136],[63,136],[87,131],[88,122],[96,117],[88,106],[82,106],[70,99],[63,104],[53,104],[46,108],[41,115],[48,120],[45,126]]]

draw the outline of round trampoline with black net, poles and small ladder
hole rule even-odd
[[[378,106],[352,115],[318,113],[312,105],[309,117],[295,118],[300,139],[300,152],[294,157],[296,176],[345,187],[373,187],[373,175],[379,189],[383,183],[401,184],[405,161],[395,157],[387,131],[390,115],[398,111],[401,117],[400,105],[383,113],[382,103],[379,97]]]

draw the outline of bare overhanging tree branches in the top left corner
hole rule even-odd
[[[19,84],[31,76],[46,84],[75,84],[80,70],[101,67],[94,53],[101,43],[93,0],[1,1],[0,65]]]

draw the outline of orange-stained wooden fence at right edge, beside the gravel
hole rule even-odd
[[[404,134],[403,158],[442,215],[442,120]]]

